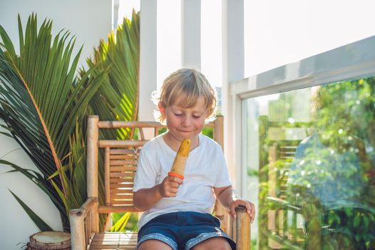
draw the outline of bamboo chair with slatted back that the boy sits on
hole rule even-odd
[[[214,139],[222,146],[223,117],[207,127],[213,128]],[[99,214],[138,212],[133,206],[133,180],[137,159],[146,136],[152,129],[152,136],[164,128],[155,121],[99,121],[98,116],[88,118],[87,142],[87,196],[80,209],[69,213],[71,223],[71,246],[73,250],[83,249],[136,249],[137,233],[108,232],[99,230]],[[137,129],[138,140],[99,139],[99,129]],[[105,201],[98,201],[98,154],[104,151]],[[215,216],[222,229],[237,242],[237,249],[250,249],[250,218],[243,207],[237,208],[237,219],[232,220],[227,209],[218,202]],[[111,216],[108,216],[108,218]],[[110,220],[108,220],[110,221]],[[111,227],[106,222],[105,229]]]

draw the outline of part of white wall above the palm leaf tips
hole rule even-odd
[[[76,36],[76,52],[83,46],[80,63],[86,61],[100,39],[107,39],[111,32],[111,0],[1,0],[0,24],[11,37],[19,51],[17,15],[20,14],[22,26],[26,28],[29,15],[38,16],[38,24],[48,18],[53,21],[53,35],[61,29],[71,31]]]

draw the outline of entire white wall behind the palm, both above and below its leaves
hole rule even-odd
[[[17,14],[21,15],[24,29],[33,11],[38,15],[38,24],[42,24],[46,17],[52,19],[53,35],[66,29],[76,36],[76,52],[83,45],[80,60],[80,64],[83,64],[93,47],[98,46],[99,40],[107,39],[111,32],[111,5],[111,0],[0,0],[0,25],[11,37],[16,51],[19,51]],[[0,159],[36,170],[29,157],[19,148],[16,141],[0,135]],[[8,166],[0,165],[0,249],[6,250],[21,249],[29,236],[38,231],[8,189],[54,230],[62,229],[58,211],[48,196],[21,174],[3,174],[9,170]]]

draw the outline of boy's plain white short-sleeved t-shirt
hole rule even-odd
[[[134,191],[149,189],[160,184],[170,171],[175,159],[173,151],[163,139],[156,136],[143,146],[135,173]],[[138,229],[160,214],[176,211],[212,213],[215,205],[213,187],[232,185],[219,144],[199,135],[199,146],[190,151],[185,166],[183,184],[176,197],[162,198],[138,221]]]

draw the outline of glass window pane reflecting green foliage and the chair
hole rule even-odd
[[[375,248],[375,77],[242,101],[258,249]]]

